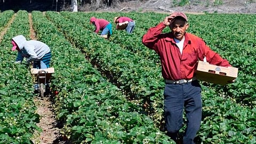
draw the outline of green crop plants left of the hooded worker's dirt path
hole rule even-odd
[[[1,13],[1,19],[13,17],[13,11]],[[30,139],[39,115],[35,113],[33,83],[25,65],[15,64],[17,52],[11,51],[11,38],[17,34],[29,35],[28,12],[18,11],[11,27],[4,35],[1,47],[0,80],[0,143],[33,143]]]

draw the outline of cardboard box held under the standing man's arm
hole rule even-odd
[[[211,65],[208,62],[198,61],[196,78],[214,84],[225,85],[237,78],[238,68]]]

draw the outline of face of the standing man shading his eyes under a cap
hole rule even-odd
[[[174,38],[181,41],[188,29],[188,23],[185,20],[178,18],[171,23],[170,29],[172,30]]]

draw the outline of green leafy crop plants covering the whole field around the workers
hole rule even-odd
[[[73,143],[174,143],[165,135],[164,80],[159,58],[141,43],[158,13],[31,12],[37,39],[52,50],[52,90],[61,133]],[[109,40],[94,34],[94,16],[113,23],[113,15],[136,22],[132,35],[115,30]],[[225,86],[202,84],[203,143],[256,143],[255,31],[253,14],[188,14],[190,33],[239,69]],[[0,13],[0,31],[11,21],[1,46],[0,143],[31,143],[39,116],[26,65],[14,65],[10,39],[29,39],[27,11]],[[113,23],[114,25],[114,23]],[[169,29],[164,29],[164,32]],[[186,121],[182,127],[186,128]]]

